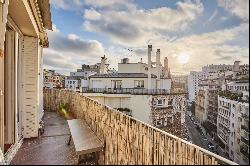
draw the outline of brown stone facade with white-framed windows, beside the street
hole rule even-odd
[[[183,138],[187,99],[185,95],[152,96],[151,119],[153,126]]]

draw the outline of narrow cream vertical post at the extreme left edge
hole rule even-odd
[[[0,149],[4,150],[4,40],[9,0],[0,0]]]

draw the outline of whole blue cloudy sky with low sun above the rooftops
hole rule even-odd
[[[68,74],[122,58],[147,63],[147,45],[161,50],[173,74],[207,64],[249,64],[249,0],[51,0],[53,31],[47,69]]]

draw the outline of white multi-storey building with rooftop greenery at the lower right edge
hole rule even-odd
[[[217,135],[228,157],[240,164],[249,164],[249,90],[245,96],[238,90],[248,86],[229,82],[218,97]]]

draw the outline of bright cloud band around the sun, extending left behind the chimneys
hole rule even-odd
[[[168,57],[170,68],[174,72],[187,74],[191,70],[200,70],[206,64],[232,64],[234,60],[241,60],[243,63],[248,63],[249,48],[238,45],[229,44],[234,41],[239,34],[244,34],[249,31],[249,25],[241,24],[229,29],[218,30],[214,32],[190,35],[171,42],[167,40],[153,40],[153,51],[157,48],[161,49],[161,61]],[[111,47],[108,51],[108,58],[117,67],[117,63],[121,58],[128,57],[132,62],[139,62],[143,58],[147,62],[147,46],[130,47],[127,51],[123,47]],[[180,64],[178,56],[180,53],[190,55],[187,64]],[[155,54],[153,54],[155,60]]]

